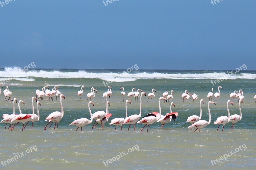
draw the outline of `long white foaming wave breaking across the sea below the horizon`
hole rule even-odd
[[[167,73],[158,72],[139,72],[134,71],[131,73],[121,72],[92,72],[85,70],[71,70],[71,71],[59,71],[59,70],[28,70],[24,71],[19,67],[5,67],[4,70],[0,71],[0,77],[5,77],[18,80],[18,81],[34,81],[34,78],[87,78],[87,79],[102,79],[105,81],[112,82],[127,82],[136,81],[138,79],[256,79],[256,74],[252,73],[236,73],[229,75],[225,72],[212,72],[205,73],[207,71],[200,71],[200,73],[193,73],[193,71],[167,71]],[[65,86],[65,85],[62,85]],[[68,85],[66,85],[68,86]],[[80,85],[70,85],[78,87]]]

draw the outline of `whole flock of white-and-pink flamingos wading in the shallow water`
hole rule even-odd
[[[0,86],[3,87],[2,84],[0,84]],[[39,106],[41,106],[40,101],[43,100],[44,96],[46,98],[45,100],[47,100],[47,101],[48,100],[53,101],[54,96],[56,96],[56,100],[57,100],[57,96],[60,96],[60,111],[54,111],[51,114],[49,114],[48,117],[46,117],[45,121],[48,122],[48,123],[46,124],[44,129],[46,130],[46,127],[50,123],[51,123],[51,125],[50,125],[50,127],[51,127],[54,122],[55,122],[54,129],[56,128],[56,125],[57,125],[57,128],[58,128],[58,124],[64,116],[64,108],[63,108],[62,100],[65,99],[64,94],[62,94],[60,92],[58,93],[58,91],[59,91],[58,89],[59,89],[58,86],[54,86],[52,88],[52,91],[50,91],[49,87],[47,85],[42,87],[42,91],[40,91],[39,89],[36,89],[36,97],[33,96],[32,100],[31,100],[31,104],[32,104],[32,113],[31,114],[23,114],[21,112],[20,104],[22,103],[23,105],[25,105],[25,102],[23,102],[22,100],[19,100],[19,102],[18,102],[19,114],[17,114],[15,112],[15,103],[17,103],[17,99],[14,98],[13,103],[12,103],[13,104],[12,114],[3,114],[3,116],[2,116],[3,120],[1,121],[1,123],[6,124],[5,129],[7,128],[7,124],[9,124],[8,129],[11,129],[11,131],[12,131],[17,124],[22,123],[22,131],[23,131],[27,127],[29,122],[32,122],[31,129],[33,129],[34,122],[40,121]],[[78,91],[78,93],[77,93],[78,94],[78,100],[80,100],[81,97],[83,96],[84,89],[85,89],[85,87],[82,86],[81,90]],[[188,117],[186,123],[191,124],[190,126],[188,126],[188,128],[196,128],[194,130],[194,132],[198,129],[199,129],[199,132],[201,132],[202,128],[206,127],[207,125],[209,125],[211,123],[210,104],[216,105],[216,103],[218,103],[218,100],[220,98],[220,89],[222,89],[222,87],[218,86],[218,92],[214,93],[214,97],[215,97],[216,102],[212,101],[213,88],[211,89],[211,92],[209,92],[208,95],[207,95],[207,98],[209,98],[209,102],[208,102],[208,106],[207,106],[208,107],[208,114],[209,114],[209,121],[201,120],[201,118],[202,118],[202,103],[203,104],[205,103],[204,100],[201,99],[200,102],[199,102],[199,111],[200,111],[199,116],[192,115],[192,116]],[[120,90],[122,90],[121,96],[122,96],[123,101],[124,101],[124,98],[125,98],[125,95],[126,95],[126,93],[124,92],[124,87],[121,87]],[[82,128],[84,126],[89,125],[93,122],[93,119],[95,119],[95,121],[94,121],[94,124],[92,126],[92,130],[93,130],[94,127],[97,126],[97,124],[101,124],[101,129],[103,129],[104,124],[106,122],[108,122],[109,118],[112,116],[112,114],[109,113],[109,108],[108,108],[108,106],[110,106],[110,104],[111,104],[110,101],[109,101],[110,96],[113,95],[112,87],[108,86],[108,91],[103,94],[106,110],[105,111],[102,111],[102,110],[97,111],[93,114],[92,114],[92,111],[90,109],[90,106],[95,105],[92,102],[92,98],[96,96],[95,92],[97,92],[97,89],[92,87],[90,89],[90,91],[91,92],[89,92],[87,94],[87,101],[89,99],[89,101],[88,101],[88,110],[89,110],[89,114],[90,114],[90,119],[79,118],[79,119],[74,120],[72,123],[70,123],[69,126],[71,126],[71,125],[77,126],[76,131],[79,128],[81,128],[81,131],[82,131]],[[9,87],[6,86],[6,89],[4,90],[5,100],[9,96],[9,99],[7,99],[7,100],[12,101],[12,98],[11,98],[12,94],[10,94],[8,92],[10,92]],[[156,89],[153,88],[152,93],[148,94],[148,100],[149,100],[149,98],[151,98],[150,102],[152,102],[152,98],[155,97],[154,92],[156,92]],[[2,92],[1,92],[1,88],[0,88],[0,94],[1,93]],[[171,104],[170,104],[170,112],[169,113],[166,113],[164,115],[164,114],[162,114],[162,111],[161,111],[160,101],[167,102],[167,99],[168,99],[168,102],[169,102],[169,99],[171,99],[171,100],[173,99],[172,93],[174,93],[173,90],[171,90],[170,94],[168,93],[168,91],[165,91],[165,92],[163,92],[163,97],[158,98],[159,112],[154,111],[154,112],[146,114],[144,117],[141,118],[141,116],[142,116],[142,97],[147,96],[147,95],[144,91],[142,91],[142,89],[139,88],[137,90],[136,88],[133,87],[132,92],[129,92],[128,95],[127,95],[127,97],[129,97],[130,100],[127,99],[125,101],[125,118],[123,118],[123,117],[114,118],[114,119],[111,120],[109,125],[114,125],[115,126],[114,131],[116,130],[117,126],[120,126],[120,129],[122,131],[122,125],[129,124],[128,131],[129,131],[131,125],[133,125],[134,131],[136,131],[135,124],[145,124],[144,127],[140,131],[142,131],[146,126],[148,126],[147,127],[147,132],[148,132],[148,128],[149,128],[150,124],[160,122],[161,125],[162,125],[161,128],[163,128],[164,124],[167,124],[167,123],[171,122],[171,120],[175,121],[175,119],[178,117],[178,112],[172,112],[172,106],[175,107],[174,102],[171,102]],[[181,97],[183,99],[183,102],[184,102],[185,99],[189,101],[190,95],[191,95],[191,93],[189,93],[188,90],[186,89],[185,93],[183,93],[181,95]],[[135,97],[135,102],[138,101],[138,97],[140,97],[139,114],[134,114],[134,115],[128,116],[127,104],[128,103],[132,104],[132,97]],[[136,97],[137,97],[137,100],[136,100]],[[193,98],[193,102],[196,102],[196,99],[198,99],[198,96],[196,95],[196,93],[193,93],[192,98]],[[232,92],[230,94],[230,98],[231,98],[232,101],[228,100],[227,105],[226,105],[228,116],[220,116],[214,122],[214,124],[218,124],[217,131],[219,130],[220,125],[223,126],[222,127],[222,131],[223,131],[225,124],[227,124],[229,122],[232,123],[231,129],[234,129],[235,123],[237,123],[238,121],[240,121],[242,119],[242,111],[241,111],[241,105],[240,104],[243,104],[243,100],[244,100],[243,90],[242,89],[240,89],[239,91],[235,90],[234,92]],[[231,104],[233,106],[234,105],[233,99],[235,99],[235,98],[238,99],[238,107],[239,107],[240,114],[234,114],[234,115],[230,116],[229,104]],[[256,95],[255,95],[254,98],[256,98]],[[147,100],[147,102],[148,102],[148,100]],[[36,101],[37,114],[35,114],[34,101]],[[95,125],[95,123],[97,123],[97,124]]]

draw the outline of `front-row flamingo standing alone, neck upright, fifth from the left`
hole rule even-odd
[[[65,99],[65,96],[63,94],[60,95],[60,112],[59,111],[52,112],[45,119],[45,121],[49,121],[48,124],[50,122],[55,122],[54,129],[56,128],[56,123],[57,123],[57,128],[58,128],[59,122],[62,119],[62,117],[64,116],[64,109],[63,109],[63,105],[62,105],[62,99]],[[44,130],[46,130],[46,127],[48,126],[48,124],[44,127]]]

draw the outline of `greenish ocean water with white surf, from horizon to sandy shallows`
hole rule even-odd
[[[64,117],[58,129],[48,128],[45,118],[54,111],[60,111],[60,101],[41,101],[40,121],[31,123],[24,131],[22,124],[14,130],[4,129],[0,124],[0,167],[4,169],[255,169],[256,167],[256,71],[241,70],[236,74],[228,75],[231,70],[76,70],[76,69],[28,69],[18,67],[0,69],[1,114],[12,113],[12,101],[4,101],[3,90],[6,86],[12,92],[12,99],[23,100],[22,113],[32,113],[31,98],[36,96],[36,89],[42,90],[47,85],[50,90],[57,85],[59,91],[66,97],[62,101]],[[217,79],[221,79],[217,82]],[[216,84],[214,83],[214,80]],[[92,124],[83,127],[83,131],[76,126],[68,126],[73,120],[90,118],[88,111],[87,93],[91,87],[97,89],[92,99],[92,113],[105,110],[102,94],[112,87],[113,96],[108,107],[112,117],[102,130],[99,125],[91,130]],[[221,96],[216,105],[211,104],[211,123],[201,132],[188,129],[186,120],[191,115],[199,115],[199,101],[203,99],[202,119],[209,120],[207,94],[213,88],[217,92],[218,86]],[[84,95],[78,100],[77,92],[85,87]],[[141,88],[146,94],[155,88],[155,97],[147,102],[148,97],[142,97],[142,117],[157,111],[158,98],[165,91],[170,94],[174,90],[172,102],[175,108],[172,112],[179,115],[175,121],[164,124],[154,123],[140,132],[144,124],[136,124],[136,131],[131,126],[108,125],[113,118],[125,117],[125,102],[121,96],[120,87],[124,87],[126,95],[132,88]],[[181,94],[185,90],[196,93],[198,99],[183,103]],[[228,116],[226,103],[231,100],[229,95],[234,90],[244,92],[244,101],[241,105],[242,120],[237,122],[234,129],[228,123],[218,131],[218,125],[213,122],[220,116]],[[127,96],[125,99],[129,99]],[[139,100],[140,101],[140,100]],[[168,101],[168,100],[167,100]],[[215,101],[215,98],[212,98]],[[234,106],[229,105],[230,114],[239,114],[238,103],[233,100]],[[161,101],[162,114],[170,112],[170,103]],[[36,107],[36,104],[34,104]],[[128,105],[128,116],[139,114],[140,102],[132,99]],[[36,111],[36,110],[35,110]],[[15,112],[18,113],[18,104],[15,103]],[[35,112],[36,113],[36,112]],[[7,125],[8,126],[8,125]],[[21,154],[23,153],[23,154]],[[227,155],[227,156],[226,156]],[[17,158],[18,157],[18,158]],[[119,158],[120,157],[120,158]],[[225,157],[225,159],[224,159]],[[118,160],[117,160],[118,158]],[[222,160],[221,160],[222,159]]]

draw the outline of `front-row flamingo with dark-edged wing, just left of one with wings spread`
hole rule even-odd
[[[160,97],[158,99],[159,113],[158,112],[149,113],[146,116],[142,117],[141,120],[137,122],[137,124],[138,123],[145,124],[145,126],[140,131],[142,131],[146,127],[146,125],[148,125],[149,127],[150,124],[157,122],[161,118],[162,114],[161,114],[160,100],[165,100],[167,102],[166,98],[164,97]],[[148,129],[147,129],[147,132],[148,132]]]

